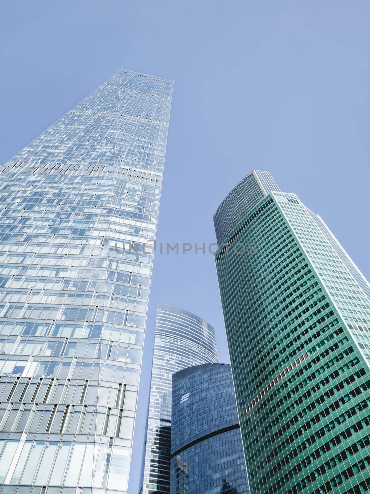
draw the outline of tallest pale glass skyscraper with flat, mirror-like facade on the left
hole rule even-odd
[[[1,169],[2,494],[127,491],[171,94],[122,69]]]

